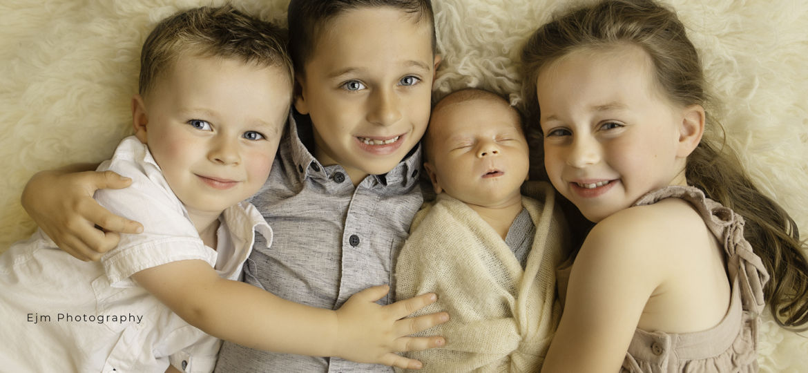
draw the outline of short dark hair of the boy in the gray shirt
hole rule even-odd
[[[436,52],[435,15],[431,0],[292,0],[288,7],[289,54],[295,70],[302,73],[311,57],[317,36],[326,22],[347,10],[389,6],[415,16],[415,22],[428,22],[432,52]]]

